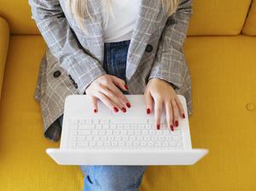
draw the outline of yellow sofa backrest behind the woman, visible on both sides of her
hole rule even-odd
[[[193,0],[188,34],[240,34],[251,2],[252,0]],[[31,18],[28,0],[0,0],[0,16],[9,22],[12,34],[39,34]]]

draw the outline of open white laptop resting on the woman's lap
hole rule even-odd
[[[154,109],[146,113],[144,96],[125,96],[131,101],[126,113],[114,113],[100,100],[93,113],[89,96],[67,96],[60,148],[46,153],[59,165],[193,165],[208,153],[191,146],[184,96],[177,95],[185,119],[179,117],[173,131],[166,125],[165,107],[157,130]]]

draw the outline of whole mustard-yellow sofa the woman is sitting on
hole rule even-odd
[[[194,0],[185,41],[192,80],[191,166],[149,166],[142,191],[256,190],[256,2]],[[0,0],[0,190],[81,190],[78,166],[56,165],[44,152],[33,100],[44,39],[26,0]]]

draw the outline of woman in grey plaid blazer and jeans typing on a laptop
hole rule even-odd
[[[47,44],[34,98],[40,101],[44,136],[58,141],[65,97],[86,94],[115,112],[129,112],[124,94],[144,94],[173,130],[185,118],[177,94],[191,114],[189,67],[183,42],[191,0],[29,0],[32,18]],[[188,117],[188,116],[187,116]],[[81,166],[84,190],[137,190],[144,165]]]

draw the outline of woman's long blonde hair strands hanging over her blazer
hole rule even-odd
[[[109,14],[112,14],[113,16],[112,1],[113,0],[102,0],[102,14],[107,20],[105,25],[108,24]],[[167,15],[173,14],[177,9],[178,4],[181,2],[181,0],[160,1],[163,9],[166,10]],[[74,20],[83,32],[87,32],[87,29],[84,26],[84,19],[86,18],[86,16],[89,17],[90,20],[93,20],[93,17],[88,11],[88,2],[89,0],[66,0],[67,13],[73,15]]]

